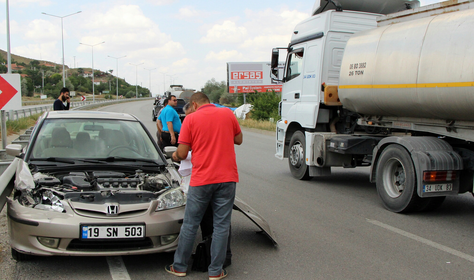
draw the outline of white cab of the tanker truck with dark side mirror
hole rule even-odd
[[[275,156],[281,160],[290,158],[295,178],[308,177],[310,166],[315,166],[313,157],[303,156],[310,154],[304,151],[304,132],[330,132],[329,122],[338,107],[328,104],[340,103],[331,100],[332,96],[325,98],[324,90],[338,85],[347,40],[355,32],[377,27],[377,16],[357,11],[324,11],[299,23],[288,47],[279,48],[287,50],[287,57]],[[272,62],[278,62],[279,49],[273,49]],[[296,140],[291,143],[296,132]]]

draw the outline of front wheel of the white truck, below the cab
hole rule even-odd
[[[288,156],[288,164],[294,178],[298,180],[309,180],[310,168],[306,165],[306,138],[301,131],[297,131],[292,135],[290,140],[290,154]]]

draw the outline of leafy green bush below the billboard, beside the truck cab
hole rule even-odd
[[[279,119],[278,103],[280,103],[280,97],[273,90],[256,93],[251,103],[254,106],[251,118],[257,120],[268,120],[270,117]]]

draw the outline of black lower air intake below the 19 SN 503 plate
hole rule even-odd
[[[67,246],[72,251],[125,251],[153,248],[153,242],[149,237],[143,240],[120,240],[120,241],[82,241],[73,239]]]

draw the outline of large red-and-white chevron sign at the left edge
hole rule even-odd
[[[0,110],[21,109],[20,74],[0,74]]]

